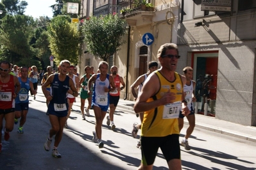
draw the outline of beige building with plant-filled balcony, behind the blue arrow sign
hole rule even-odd
[[[120,17],[128,23],[128,34],[124,36],[126,44],[121,47],[112,58],[109,59],[109,65],[116,65],[119,68],[119,75],[124,78],[126,89],[121,93],[121,98],[133,100],[130,86],[132,83],[146,72],[148,72],[148,63],[151,60],[157,61],[157,50],[160,45],[167,42],[177,42],[178,30],[178,1],[150,1],[155,9],[142,10],[141,7],[135,7],[131,1],[84,1],[82,4],[83,14],[81,17],[92,15],[104,15],[107,13],[117,13],[120,15],[120,10],[124,6],[132,8],[132,12]],[[85,15],[86,13],[86,15]],[[166,17],[167,16],[167,17]],[[167,20],[168,23],[167,23]],[[142,37],[149,33],[153,38]],[[148,41],[148,43],[147,43]],[[86,51],[86,45],[83,45],[83,50]],[[93,65],[96,72],[98,63],[101,61],[95,58],[92,54],[83,54],[80,60],[80,73],[83,73],[85,65]],[[183,63],[185,58],[180,59]],[[185,65],[180,65],[180,71]]]

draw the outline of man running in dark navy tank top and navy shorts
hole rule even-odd
[[[51,122],[49,137],[47,137],[46,143],[44,143],[44,149],[46,151],[50,150],[51,140],[53,135],[55,135],[55,144],[52,155],[56,158],[61,157],[60,153],[57,151],[57,147],[62,139],[63,128],[65,121],[67,120],[67,111],[69,108],[69,105],[67,104],[67,93],[74,97],[78,96],[78,91],[76,91],[73,80],[67,75],[70,65],[68,60],[62,60],[58,66],[60,72],[50,75],[42,86],[44,96],[50,101],[48,105],[48,113]],[[46,89],[49,84],[51,84],[52,88],[51,95]]]

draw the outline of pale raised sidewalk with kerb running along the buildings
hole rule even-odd
[[[117,110],[124,109],[135,114],[133,111],[134,103],[135,102],[130,100],[120,99],[117,105]],[[188,125],[186,118],[184,118],[184,124]],[[196,114],[196,128],[203,128],[205,130],[238,137],[240,139],[245,139],[256,143],[256,127],[239,125],[229,121],[218,120],[214,117]]]

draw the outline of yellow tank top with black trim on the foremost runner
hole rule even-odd
[[[141,135],[145,137],[164,137],[171,134],[180,134],[178,128],[178,114],[181,111],[183,84],[179,73],[175,72],[175,81],[168,81],[160,72],[155,71],[160,82],[159,91],[147,102],[162,98],[164,93],[170,89],[176,98],[170,104],[160,105],[155,109],[144,112],[141,127]]]

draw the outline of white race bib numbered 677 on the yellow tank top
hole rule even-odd
[[[182,108],[182,102],[174,102],[173,104],[164,105],[163,119],[178,118]]]

